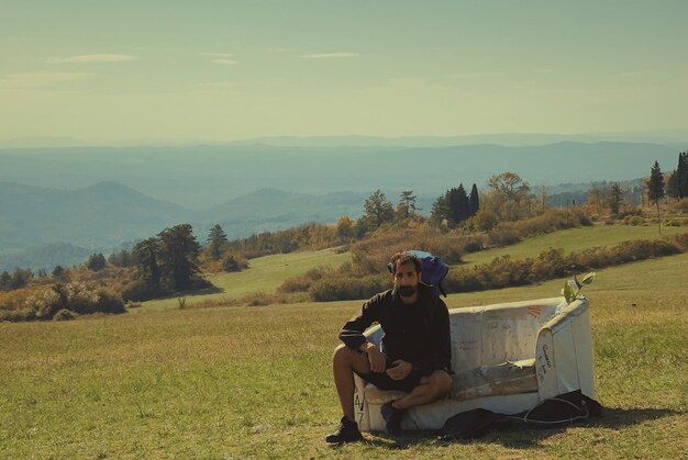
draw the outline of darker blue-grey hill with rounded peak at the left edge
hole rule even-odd
[[[55,190],[0,182],[1,251],[52,243],[118,246],[184,222],[193,213],[115,182]]]

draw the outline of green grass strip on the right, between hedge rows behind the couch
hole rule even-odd
[[[686,227],[662,227],[662,236],[685,232]],[[468,265],[487,263],[500,256],[525,259],[551,248],[563,248],[565,253],[575,253],[595,246],[614,246],[630,239],[657,239],[659,237],[656,226],[595,225],[535,236],[518,245],[466,254],[463,259],[464,263]]]

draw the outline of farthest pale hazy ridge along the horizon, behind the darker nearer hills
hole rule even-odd
[[[688,145],[687,145],[688,147]],[[685,149],[684,147],[683,149]],[[339,190],[413,190],[436,197],[507,170],[532,186],[629,180],[656,160],[676,167],[678,147],[641,143],[574,143],[504,147],[223,145],[1,149],[0,180],[56,189],[115,181],[158,200],[203,211],[269,187],[308,194]]]

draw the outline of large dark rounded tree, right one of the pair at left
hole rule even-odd
[[[160,266],[165,281],[175,291],[192,287],[193,277],[198,273],[198,257],[201,245],[193,236],[190,224],[179,224],[158,233],[160,240]]]

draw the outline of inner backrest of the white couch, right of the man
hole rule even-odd
[[[565,305],[554,298],[450,310],[452,368],[535,358],[540,328]]]

